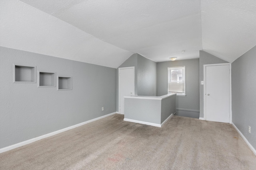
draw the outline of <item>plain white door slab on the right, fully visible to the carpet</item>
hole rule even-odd
[[[206,120],[229,122],[230,65],[205,66]]]

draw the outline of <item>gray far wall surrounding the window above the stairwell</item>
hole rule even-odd
[[[199,59],[167,61],[157,63],[157,96],[167,94],[168,67],[186,66],[186,96],[176,97],[176,107],[182,109],[199,110]],[[198,112],[191,112],[188,117],[199,118]],[[179,115],[179,110],[176,111]]]

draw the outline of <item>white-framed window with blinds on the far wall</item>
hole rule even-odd
[[[177,96],[186,95],[185,66],[168,67],[168,93],[175,92]]]

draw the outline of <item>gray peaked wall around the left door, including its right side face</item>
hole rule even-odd
[[[156,96],[156,62],[133,54],[118,68],[134,66],[134,95]],[[116,71],[116,110],[118,111],[118,69]]]

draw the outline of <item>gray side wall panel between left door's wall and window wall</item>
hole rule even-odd
[[[156,62],[138,54],[138,96],[156,96]]]

